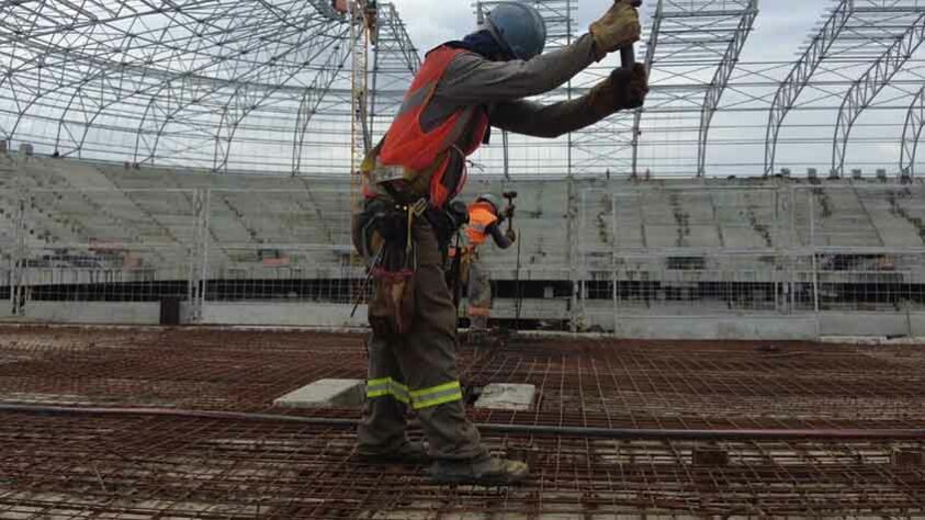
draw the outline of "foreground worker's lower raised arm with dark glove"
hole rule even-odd
[[[641,106],[648,92],[645,68],[616,69],[587,94],[568,101],[540,104],[527,100],[498,103],[493,126],[533,137],[559,137],[590,126],[621,110]]]

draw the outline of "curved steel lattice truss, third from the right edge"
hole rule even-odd
[[[797,98],[809,84],[816,68],[828,56],[832,44],[838,39],[842,31],[855,11],[855,0],[842,0],[832,11],[819,34],[813,36],[812,43],[790,70],[787,79],[780,83],[768,114],[768,128],[765,133],[765,176],[774,172],[775,155],[777,154],[777,137],[783,118],[793,109]]]

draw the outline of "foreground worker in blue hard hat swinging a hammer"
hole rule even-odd
[[[526,3],[497,4],[462,41],[430,50],[385,137],[363,166],[364,205],[353,244],[371,267],[366,406],[358,453],[369,460],[433,461],[437,483],[510,484],[527,464],[492,456],[465,416],[456,368],[456,312],[443,278],[459,221],[448,210],[465,182],[465,158],[489,126],[557,137],[643,104],[645,69],[616,69],[580,98],[541,105],[551,91],[640,38],[639,14],[612,4],[589,33],[542,54],[545,24]],[[360,211],[361,210],[361,211]],[[456,226],[456,227],[454,227]],[[406,410],[426,443],[406,436]]]

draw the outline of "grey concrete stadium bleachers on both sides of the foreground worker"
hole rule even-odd
[[[27,242],[33,248],[126,244],[138,246],[150,264],[185,264],[199,240],[195,191],[207,189],[213,269],[261,275],[261,249],[279,250],[304,275],[334,272],[349,259],[348,179],[211,174],[0,155],[0,197],[5,197],[0,229],[12,228],[9,189],[14,186],[31,192]],[[484,192],[517,190],[520,276],[563,280],[576,267],[610,269],[616,257],[623,257],[620,264],[632,263],[633,257],[685,257],[686,251],[754,251],[757,258],[809,246],[811,238],[819,247],[922,248],[923,188],[864,180],[811,185],[789,179],[505,181],[474,176],[461,196],[472,201]],[[500,278],[515,275],[516,251],[489,246],[484,258]]]

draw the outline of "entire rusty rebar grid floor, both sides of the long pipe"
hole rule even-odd
[[[267,411],[317,378],[362,378],[364,366],[360,336],[0,327],[2,403]],[[471,410],[481,422],[925,425],[918,347],[519,339],[463,349],[461,368],[470,386],[538,386],[533,410]],[[360,461],[349,428],[0,412],[0,519],[925,518],[921,442],[485,441],[529,462],[530,481],[435,486],[422,467]]]

